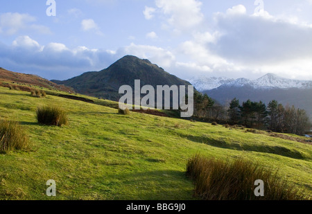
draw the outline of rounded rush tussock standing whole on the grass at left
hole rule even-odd
[[[43,106],[37,108],[37,121],[44,125],[67,125],[67,113],[60,107]]]

